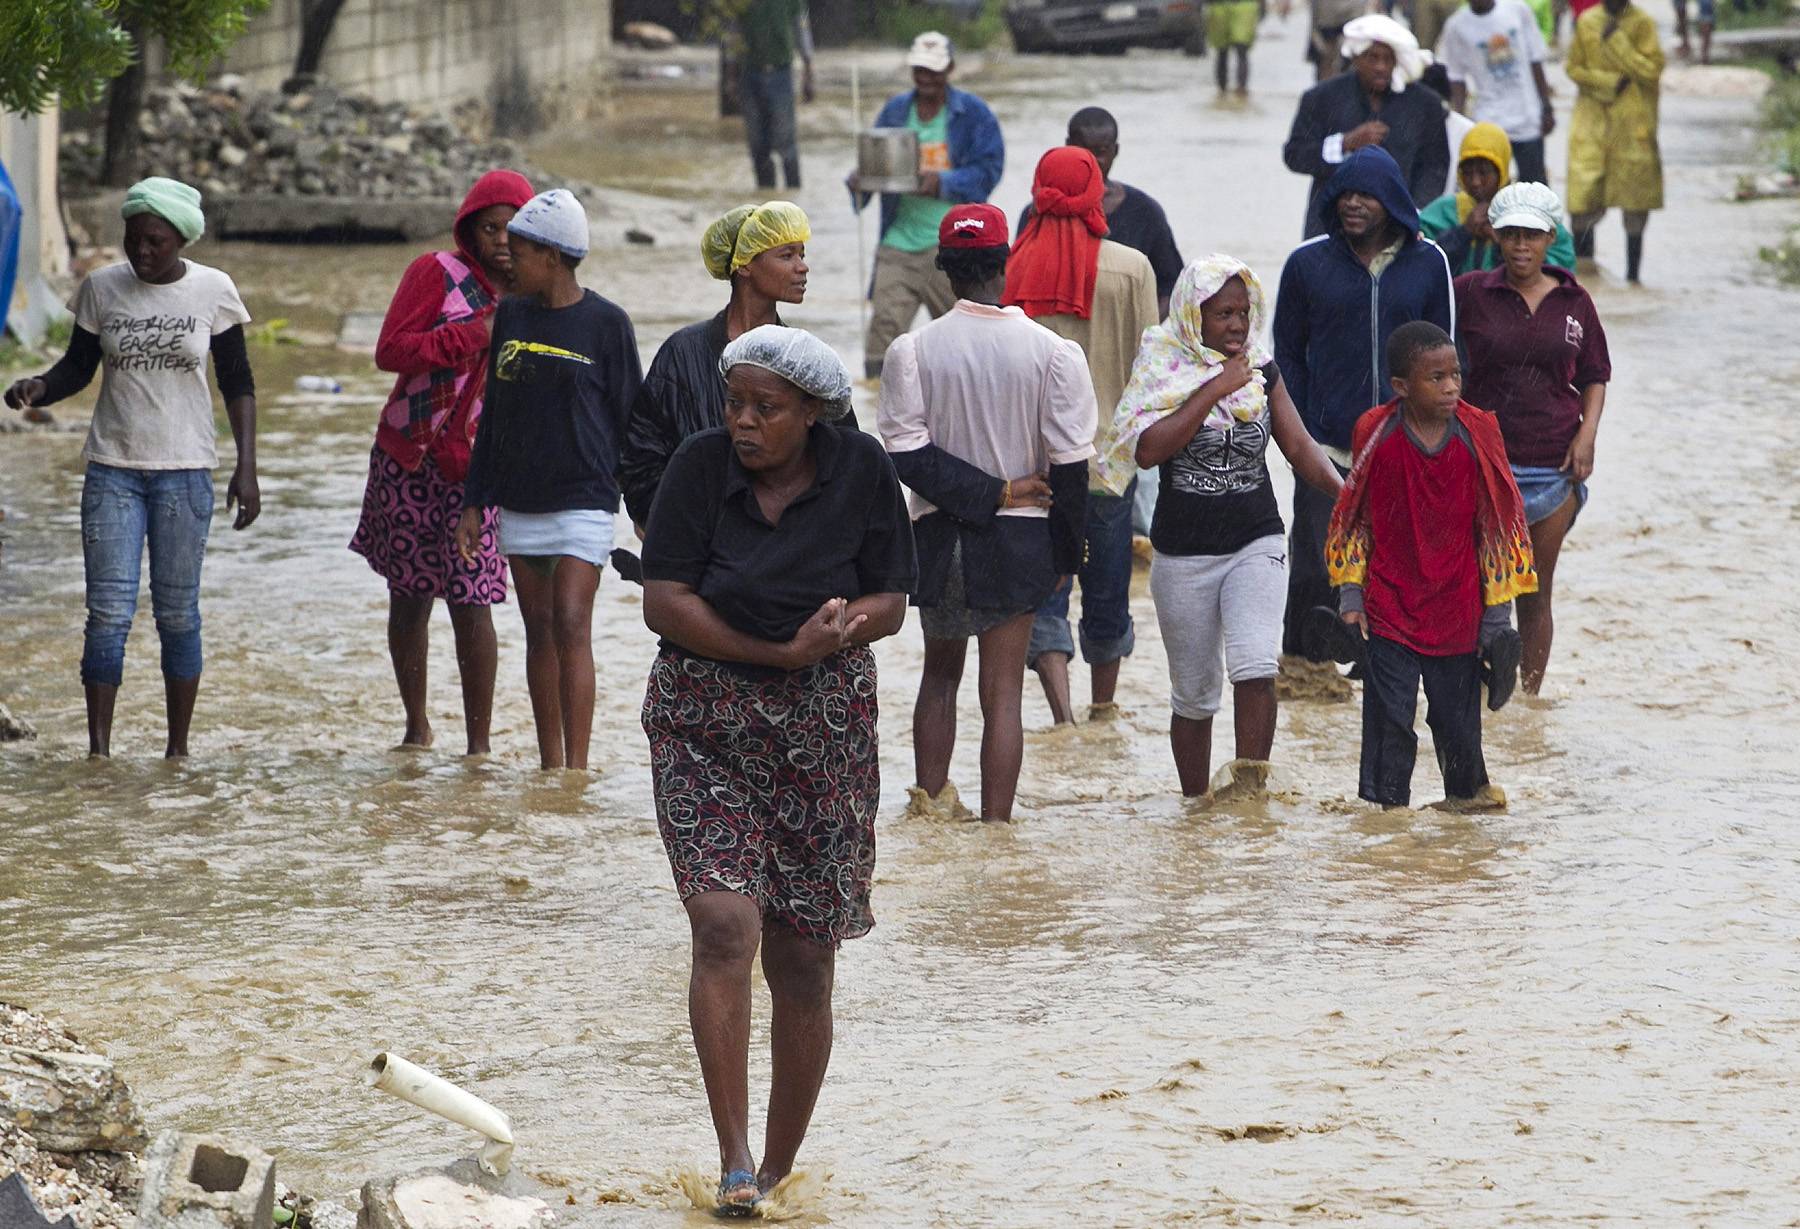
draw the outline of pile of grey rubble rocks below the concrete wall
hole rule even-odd
[[[139,115],[142,166],[205,196],[461,198],[482,171],[524,171],[542,187],[569,187],[520,166],[506,140],[470,140],[441,115],[376,103],[317,83],[301,94],[263,94],[243,77],[207,88],[155,86]],[[99,185],[103,131],[63,135],[63,185]]]

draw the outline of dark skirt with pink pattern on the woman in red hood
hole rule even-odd
[[[463,515],[463,484],[445,479],[425,457],[407,473],[376,444],[369,453],[369,486],[362,493],[362,520],[349,549],[369,560],[389,590],[410,597],[443,597],[452,606],[491,606],[506,601],[506,558],[500,554],[497,511],[481,518],[481,551],[464,563],[455,549],[455,522]]]

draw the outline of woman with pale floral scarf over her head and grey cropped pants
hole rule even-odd
[[[1224,673],[1237,759],[1265,761],[1274,745],[1287,549],[1264,461],[1271,435],[1301,480],[1330,497],[1341,486],[1287,396],[1265,320],[1262,283],[1240,261],[1211,256],[1183,270],[1168,320],[1145,329],[1109,443],[1109,457],[1134,448],[1136,464],[1161,466],[1150,597],[1188,795],[1208,788]]]

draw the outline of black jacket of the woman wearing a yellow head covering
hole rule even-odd
[[[650,524],[650,506],[675,450],[689,435],[725,425],[725,378],[718,374],[724,353],[725,313],[720,311],[670,333],[650,360],[619,452],[619,489],[635,524]],[[859,430],[855,412],[837,425]]]

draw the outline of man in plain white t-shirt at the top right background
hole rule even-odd
[[[1555,128],[1544,36],[1525,0],[1469,0],[1451,14],[1438,59],[1451,76],[1451,106],[1498,124],[1512,142],[1519,180],[1548,184],[1544,137]],[[1471,92],[1474,94],[1471,106]]]

